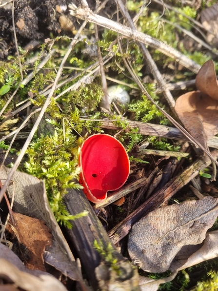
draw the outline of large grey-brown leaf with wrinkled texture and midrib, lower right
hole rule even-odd
[[[183,246],[204,240],[217,216],[218,199],[210,196],[156,209],[133,226],[129,255],[145,271],[164,272]]]

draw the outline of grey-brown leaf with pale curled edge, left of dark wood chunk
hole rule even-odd
[[[2,167],[0,177],[6,180],[10,169]],[[15,193],[13,210],[24,215],[43,220],[52,231],[52,245],[44,252],[44,260],[72,280],[79,280],[75,259],[59,229],[48,203],[45,186],[38,178],[16,171],[11,185],[7,188],[9,197]]]

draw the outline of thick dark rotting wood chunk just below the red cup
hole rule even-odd
[[[132,291],[139,290],[139,274],[137,269],[129,263],[113,245],[112,241],[103,228],[90,202],[82,190],[68,189],[63,198],[66,209],[75,215],[83,210],[89,211],[88,215],[81,217],[72,223],[72,229],[66,229],[72,245],[78,252],[82,270],[84,270],[90,285],[94,290]],[[109,244],[113,250],[113,259],[117,260],[119,272],[110,268],[103,256],[94,248],[94,241],[106,249]],[[102,289],[102,287],[104,287]],[[112,288],[112,289],[111,289]]]

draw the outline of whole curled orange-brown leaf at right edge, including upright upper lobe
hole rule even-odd
[[[218,83],[213,61],[200,68],[196,77],[199,91],[178,97],[175,111],[185,128],[204,147],[218,133]]]

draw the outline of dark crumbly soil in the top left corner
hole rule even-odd
[[[2,3],[5,1],[3,0]],[[73,1],[80,6],[79,0]],[[95,9],[94,0],[87,1],[91,9]],[[107,13],[111,6],[115,7],[113,1],[107,4],[103,10]],[[18,45],[24,47],[31,41],[44,42],[46,38],[53,36],[67,35],[73,36],[72,31],[66,29],[61,23],[61,18],[72,21],[77,29],[79,23],[70,15],[68,5],[71,0],[20,0],[14,3],[15,31]],[[39,42],[37,42],[39,44]],[[32,42],[31,42],[32,43]],[[34,45],[33,45],[34,47]],[[9,55],[16,54],[12,2],[0,8],[0,60],[4,60]]]

